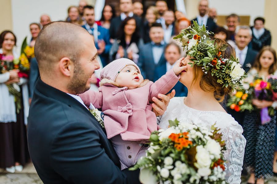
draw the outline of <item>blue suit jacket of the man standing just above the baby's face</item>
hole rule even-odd
[[[164,58],[163,53],[158,64],[155,64],[153,58],[153,54],[155,53],[152,52],[152,47],[153,46],[151,43],[147,43],[144,44],[141,48],[139,48],[138,66],[144,79],[154,81],[155,67],[160,66],[163,63],[166,63],[166,60]]]

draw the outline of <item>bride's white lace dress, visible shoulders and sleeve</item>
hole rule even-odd
[[[175,97],[170,100],[167,111],[162,116],[159,126],[166,129],[168,120],[193,122],[211,128],[216,124],[220,128],[227,150],[224,152],[225,179],[230,184],[240,184],[243,156],[246,140],[243,137],[243,128],[227,113],[220,111],[200,111],[184,104],[184,97]]]

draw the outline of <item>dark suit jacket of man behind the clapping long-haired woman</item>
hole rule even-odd
[[[134,19],[136,20],[136,26],[139,27],[139,31],[140,33],[142,33],[142,21],[141,18],[138,17],[137,15],[133,16]],[[110,38],[115,39],[117,38],[117,31],[120,27],[122,20],[121,17],[114,17],[111,21],[110,21]]]

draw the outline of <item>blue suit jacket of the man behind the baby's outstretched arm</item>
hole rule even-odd
[[[167,64],[164,63],[161,66],[156,67],[155,69],[155,77],[154,81],[158,80],[161,78],[163,75],[165,75],[167,72]],[[187,87],[183,85],[181,82],[177,82],[177,84],[172,88],[172,90],[175,90],[175,97],[186,97],[187,96]],[[169,93],[171,93],[171,91]]]

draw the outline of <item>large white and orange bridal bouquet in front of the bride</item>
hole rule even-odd
[[[130,170],[140,168],[144,184],[170,181],[182,183],[226,183],[219,129],[169,121],[170,127],[151,134],[147,156]]]

